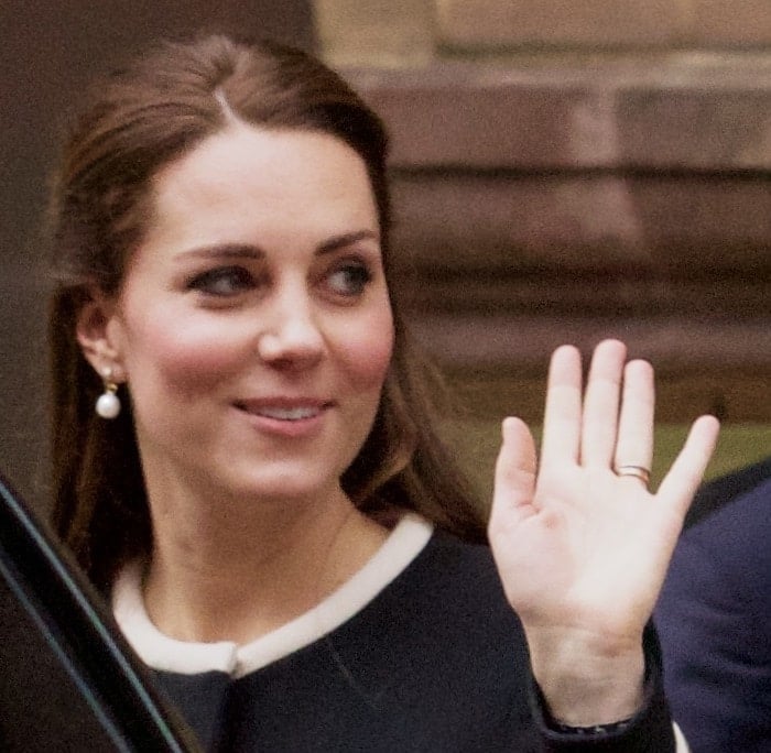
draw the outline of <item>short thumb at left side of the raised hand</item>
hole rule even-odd
[[[520,418],[506,418],[501,434],[490,527],[503,515],[509,517],[512,511],[528,514],[535,489],[535,444],[526,424]]]

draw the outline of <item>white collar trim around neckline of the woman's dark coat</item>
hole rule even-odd
[[[112,590],[119,628],[140,658],[155,669],[195,675],[225,672],[243,677],[327,635],[360,612],[417,557],[433,525],[414,513],[402,517],[372,558],[324,601],[251,643],[193,643],[164,635],[144,609],[141,570],[124,568]]]

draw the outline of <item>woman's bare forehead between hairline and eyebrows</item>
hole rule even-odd
[[[315,131],[235,123],[161,170],[152,201],[150,233],[176,240],[226,228],[238,234],[378,227],[363,160],[341,140]]]

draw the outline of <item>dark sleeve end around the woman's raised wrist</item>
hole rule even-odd
[[[645,686],[643,706],[621,729],[611,732],[566,733],[557,731],[537,685],[533,680],[531,701],[533,717],[547,753],[674,753],[672,718],[664,696],[662,657],[652,624],[643,635]]]

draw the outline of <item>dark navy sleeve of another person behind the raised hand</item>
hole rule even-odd
[[[656,607],[664,685],[694,751],[771,750],[771,481],[686,532]]]

